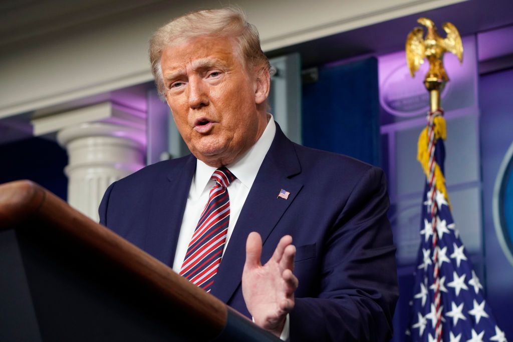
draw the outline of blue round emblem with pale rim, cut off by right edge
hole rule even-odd
[[[495,180],[492,211],[499,243],[513,265],[513,143],[502,160]]]

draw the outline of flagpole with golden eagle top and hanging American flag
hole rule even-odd
[[[446,51],[452,52],[461,62],[461,38],[450,23],[443,24],[447,37],[442,38],[428,18],[420,18],[418,22],[427,28],[426,36],[424,38],[420,27],[408,34],[406,57],[412,76],[424,58],[429,61],[424,79],[429,92],[429,112],[427,127],[419,136],[417,154],[426,176],[420,231],[423,238],[414,273],[415,294],[410,301],[411,323],[405,337],[411,342],[506,342],[504,332],[486,303],[483,286],[471,260],[465,255],[452,218],[443,174],[447,131],[440,95],[449,81],[443,55]],[[437,148],[440,150],[436,151]]]

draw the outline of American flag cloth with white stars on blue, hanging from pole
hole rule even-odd
[[[430,153],[431,158],[435,158],[441,172],[439,178],[443,178],[443,140],[433,138],[432,141],[435,150]],[[504,332],[497,326],[484,297],[483,285],[455,227],[445,185],[440,191],[433,183],[438,184],[429,182],[428,177],[424,188],[421,244],[406,340],[505,342]]]

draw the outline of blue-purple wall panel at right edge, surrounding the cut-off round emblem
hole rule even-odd
[[[513,69],[481,76],[481,170],[483,176],[483,219],[485,244],[485,289],[499,327],[508,340],[513,339],[511,308],[513,307],[513,265],[504,254],[492,216],[494,186],[499,168],[513,144]],[[508,195],[509,174],[506,173],[504,195]],[[511,188],[509,188],[511,189]],[[508,199],[501,204],[508,208]],[[509,198],[511,200],[511,198]],[[507,217],[508,214],[506,214]],[[507,222],[505,222],[507,224]],[[506,228],[506,227],[503,227]]]

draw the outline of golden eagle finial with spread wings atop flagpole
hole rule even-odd
[[[443,65],[443,57],[446,51],[455,54],[460,63],[463,61],[463,45],[461,44],[460,33],[456,26],[451,23],[442,25],[447,33],[446,38],[442,38],[430,19],[421,17],[417,21],[427,28],[426,36],[423,38],[424,30],[421,27],[414,28],[406,38],[406,60],[411,76],[419,70],[420,65],[424,63],[426,57],[429,61],[429,71],[426,75],[426,82],[445,83],[449,81]]]

